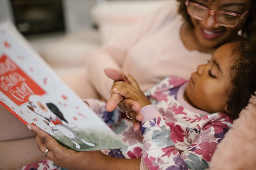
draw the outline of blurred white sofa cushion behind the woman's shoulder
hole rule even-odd
[[[166,3],[166,0],[107,1],[91,8],[93,21],[99,26],[100,40],[105,44],[134,22]]]

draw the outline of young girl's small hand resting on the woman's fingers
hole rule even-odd
[[[120,94],[126,99],[131,99],[135,102],[138,102],[140,107],[151,104],[148,98],[144,95],[143,91],[140,89],[136,80],[134,80],[134,78],[131,77],[131,75],[129,75],[127,72],[124,72],[124,75],[129,82],[114,82],[112,89],[110,90],[110,94]]]

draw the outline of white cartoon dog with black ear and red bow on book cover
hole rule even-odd
[[[88,146],[95,146],[93,143],[85,141],[70,130],[76,128],[76,125],[69,124],[58,107],[53,103],[46,103],[43,97],[39,95],[30,95],[29,104],[30,105],[27,105],[27,107],[31,111],[44,117],[46,120],[48,120],[48,122],[52,122],[54,124],[53,127],[48,126],[50,130],[59,130],[63,135],[67,136],[75,144],[77,149],[80,149],[80,145],[76,143],[74,139],[79,139]]]

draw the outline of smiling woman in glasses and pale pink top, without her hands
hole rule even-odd
[[[126,70],[143,91],[169,73],[188,79],[217,47],[250,36],[256,18],[252,0],[182,0],[179,9],[177,5],[167,1],[88,59],[90,82],[100,97],[109,99],[113,83],[105,68]],[[97,97],[96,91],[88,91],[87,97]]]

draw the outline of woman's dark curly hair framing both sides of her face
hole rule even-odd
[[[192,27],[193,24],[190,20],[190,15],[187,13],[187,8],[186,8],[186,5],[185,5],[185,1],[186,0],[177,0],[178,2],[180,2],[180,5],[179,5],[179,13],[182,15],[183,19],[188,22]],[[212,0],[214,1],[214,0]],[[244,26],[244,29],[243,29],[243,33],[246,33],[247,36],[251,36],[251,33],[253,32],[253,26],[255,25],[256,23],[256,2],[254,2],[255,0],[253,0],[253,6],[251,8],[251,10],[249,11],[249,13],[247,14],[248,15],[248,18],[247,18],[247,22]]]

